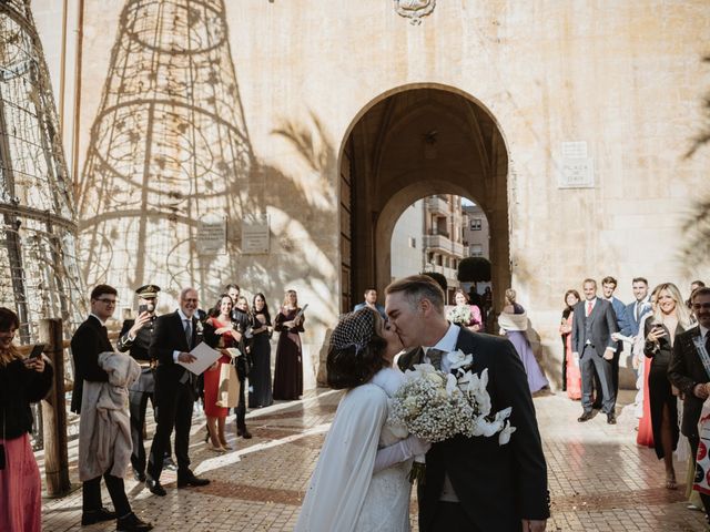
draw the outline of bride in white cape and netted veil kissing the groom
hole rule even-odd
[[[386,422],[387,400],[404,380],[392,367],[400,349],[399,337],[367,307],[343,316],[333,330],[328,385],[347,392],[323,443],[296,532],[409,531],[412,459],[429,443],[398,438]]]

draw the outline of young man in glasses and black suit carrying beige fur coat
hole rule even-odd
[[[113,351],[109,340],[105,321],[113,316],[116,304],[116,290],[109,285],[98,285],[91,290],[91,314],[79,326],[71,339],[71,354],[74,361],[74,388],[71,397],[71,411],[81,413],[84,380],[91,382],[108,382],[109,374],[99,366],[99,355]],[[81,460],[82,457],[79,457]],[[111,468],[108,469],[110,471]],[[108,521],[118,516],[116,529],[125,531],[151,530],[150,523],[144,523],[132,512],[125,495],[123,479],[113,477],[109,472],[103,480],[113,501],[115,513],[103,508],[101,502],[101,477],[88,480],[82,484],[82,515],[81,524],[89,525]]]

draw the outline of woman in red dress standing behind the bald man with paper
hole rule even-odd
[[[231,449],[224,434],[230,409],[216,405],[222,365],[232,364],[232,357],[226,349],[234,347],[237,342],[235,338],[237,332],[232,327],[231,314],[232,298],[227,294],[222,294],[207,318],[207,324],[214,327],[214,334],[220,336],[217,349],[222,350],[222,357],[204,372],[204,415],[207,418],[210,449],[215,452],[225,452]]]

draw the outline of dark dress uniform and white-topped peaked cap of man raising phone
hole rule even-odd
[[[155,285],[141,286],[135,294],[144,299],[156,298],[160,287]],[[131,464],[136,480],[145,480],[145,448],[143,447],[143,432],[145,427],[145,410],[148,400],[151,400],[153,410],[155,402],[153,393],[155,391],[155,378],[153,375],[154,364],[148,354],[151,345],[155,314],[135,334],[135,338],[130,338],[129,331],[135,324],[134,319],[123,321],[121,334],[116,347],[119,351],[129,351],[131,357],[141,366],[141,376],[129,388],[130,412],[131,412],[131,440],[133,441],[133,452],[131,453]]]

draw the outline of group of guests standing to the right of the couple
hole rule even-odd
[[[601,297],[595,279],[585,279],[582,297],[575,289],[565,294],[559,327],[565,349],[562,389],[570,399],[581,401],[578,421],[592,419],[594,409],[601,409],[607,421],[616,423],[619,358],[626,350],[638,377],[637,443],[655,449],[663,460],[665,485],[674,490],[673,451],[682,432],[690,444],[688,477],[692,480],[700,409],[710,391],[706,387],[710,381],[710,288],[696,280],[690,297],[683,299],[673,283],[649,291],[648,280],[636,277],[631,283],[635,300],[625,305],[613,296],[613,277],[605,277],[601,286]],[[679,408],[681,400],[684,407]]]

